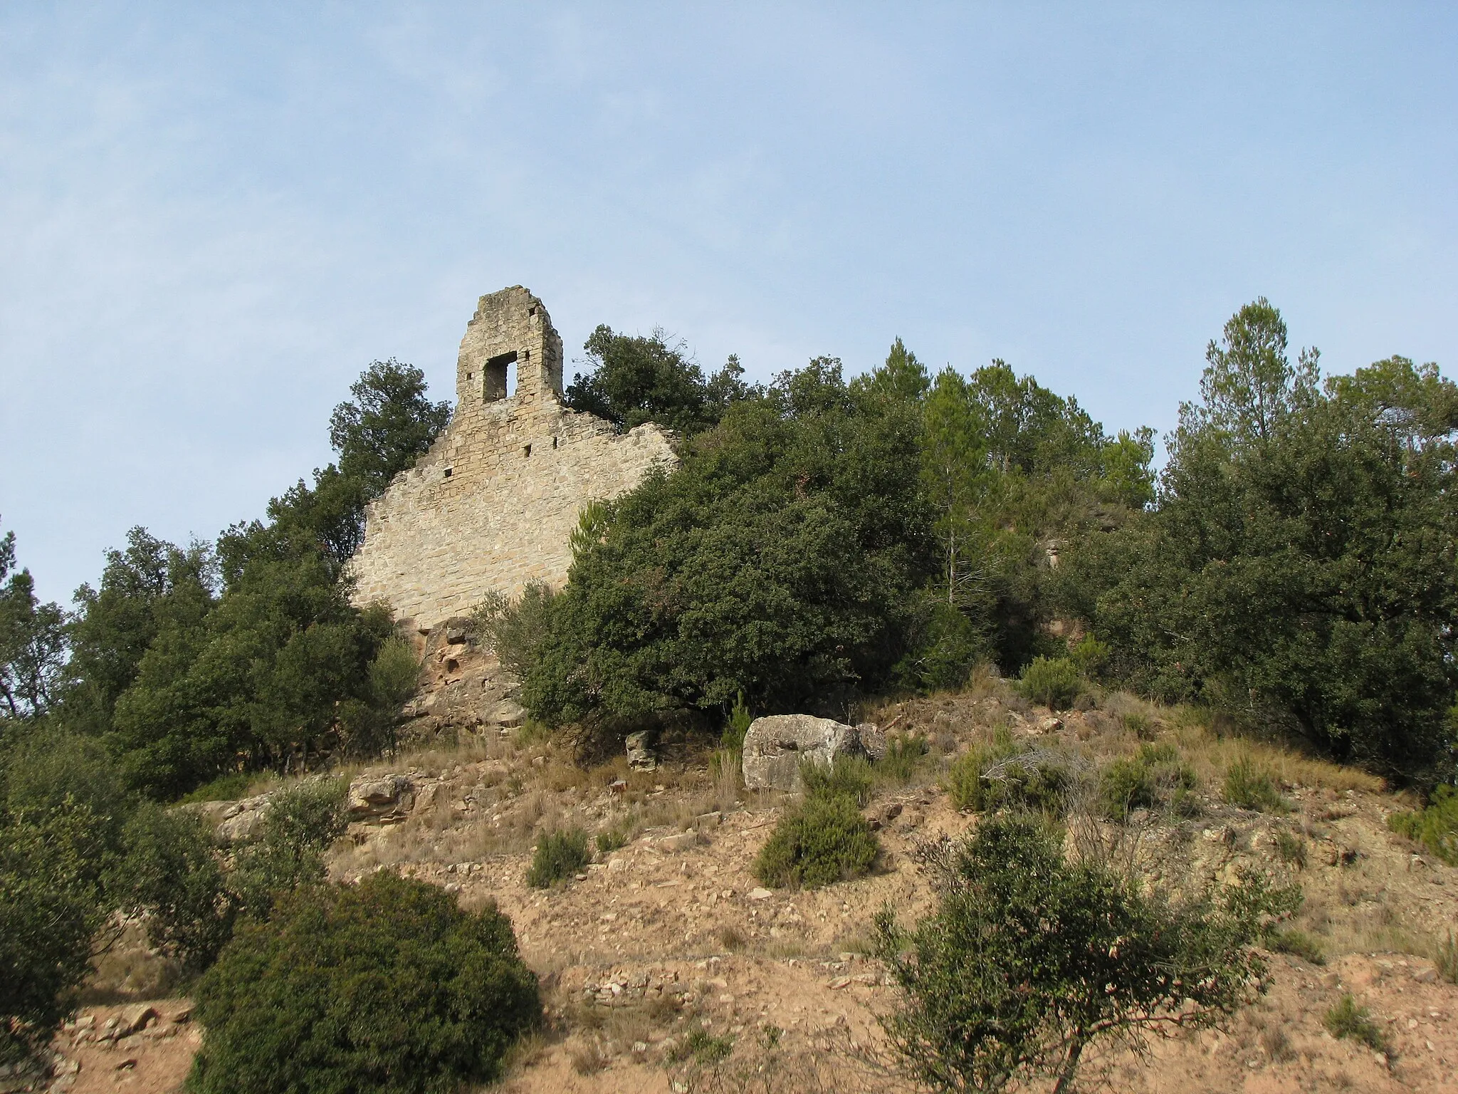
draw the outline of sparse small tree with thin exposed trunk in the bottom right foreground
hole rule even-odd
[[[913,1076],[936,1090],[997,1091],[1051,1076],[1073,1084],[1085,1052],[1216,1025],[1260,989],[1252,948],[1299,890],[1239,888],[1187,906],[1092,861],[1026,817],[984,818],[933,850],[935,913],[914,929],[886,909],[878,955],[901,989],[884,1025]]]

